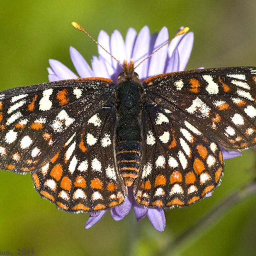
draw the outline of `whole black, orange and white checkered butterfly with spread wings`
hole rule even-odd
[[[124,202],[187,206],[214,190],[220,145],[256,144],[256,68],[173,72],[143,82],[133,63],[115,84],[61,80],[0,94],[0,168],[32,174],[68,212]]]

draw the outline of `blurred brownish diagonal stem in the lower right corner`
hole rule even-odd
[[[182,250],[186,248],[192,237],[198,238],[202,236],[212,224],[216,224],[224,217],[225,213],[228,212],[232,207],[234,207],[238,202],[248,198],[250,195],[256,192],[256,178],[250,181],[248,184],[242,188],[236,190],[231,196],[226,200],[221,202],[218,206],[213,208],[208,214],[202,217],[198,222],[188,228],[185,232],[177,236],[169,244],[167,244],[164,250],[158,252],[158,256],[167,256],[175,254],[176,250]]]

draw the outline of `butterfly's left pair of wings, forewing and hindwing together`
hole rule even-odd
[[[40,195],[67,211],[119,204],[113,87],[108,79],[81,78],[2,92],[0,167],[32,172]]]

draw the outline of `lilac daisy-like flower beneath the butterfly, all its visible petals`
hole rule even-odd
[[[118,30],[114,30],[111,37],[103,30],[100,31],[98,36],[98,42],[121,63],[124,60],[127,60],[129,63],[133,59],[134,66],[167,41],[168,30],[166,27],[163,27],[158,34],[152,34],[152,36],[150,36],[148,26],[144,26],[138,35],[134,28],[129,28],[125,41]],[[150,76],[184,70],[190,57],[193,41],[194,34],[192,32],[176,36],[170,44],[158,50],[158,52],[136,68],[139,78],[144,80]],[[122,68],[99,46],[98,53],[99,57],[92,56],[91,68],[82,55],[71,46],[70,56],[76,72],[80,77],[104,77],[116,82]],[[50,59],[49,63],[48,77],[50,81],[78,78],[74,72],[58,60]],[[224,159],[240,155],[239,152],[224,150],[224,148],[222,149],[222,154]],[[211,192],[207,193],[206,196],[211,196]],[[132,206],[138,221],[148,216],[148,219],[156,230],[164,230],[166,223],[164,210],[162,208],[146,208],[137,204],[134,200],[132,187],[128,187],[128,196],[125,202],[111,208],[110,214],[114,220],[122,220],[130,212]],[[96,224],[104,216],[106,211],[91,213],[85,228],[90,228]]]

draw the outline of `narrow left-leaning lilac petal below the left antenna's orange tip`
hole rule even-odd
[[[84,57],[72,46],[69,48],[70,57],[80,77],[93,77],[92,69]]]

